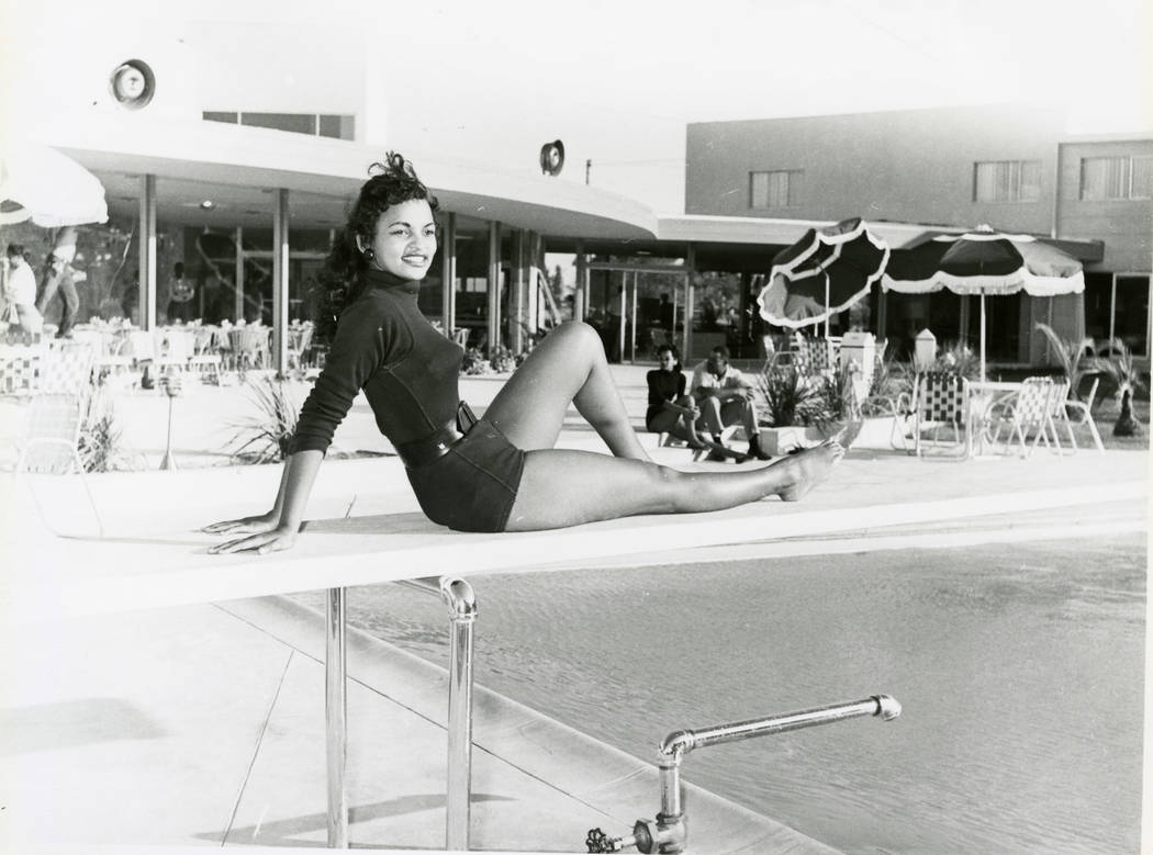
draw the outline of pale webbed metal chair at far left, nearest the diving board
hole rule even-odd
[[[56,474],[61,461],[65,466],[63,474],[67,475],[68,469],[75,464],[103,537],[104,522],[89,489],[84,461],[80,454],[80,436],[92,391],[89,379],[93,360],[92,348],[84,343],[62,343],[46,351],[39,386],[29,406],[28,426],[20,459],[16,461],[15,477],[18,481],[21,474],[33,471]],[[33,457],[33,449],[40,448],[55,449],[56,454],[38,454]],[[52,524],[31,481],[29,492],[44,524],[53,534],[61,534]]]

